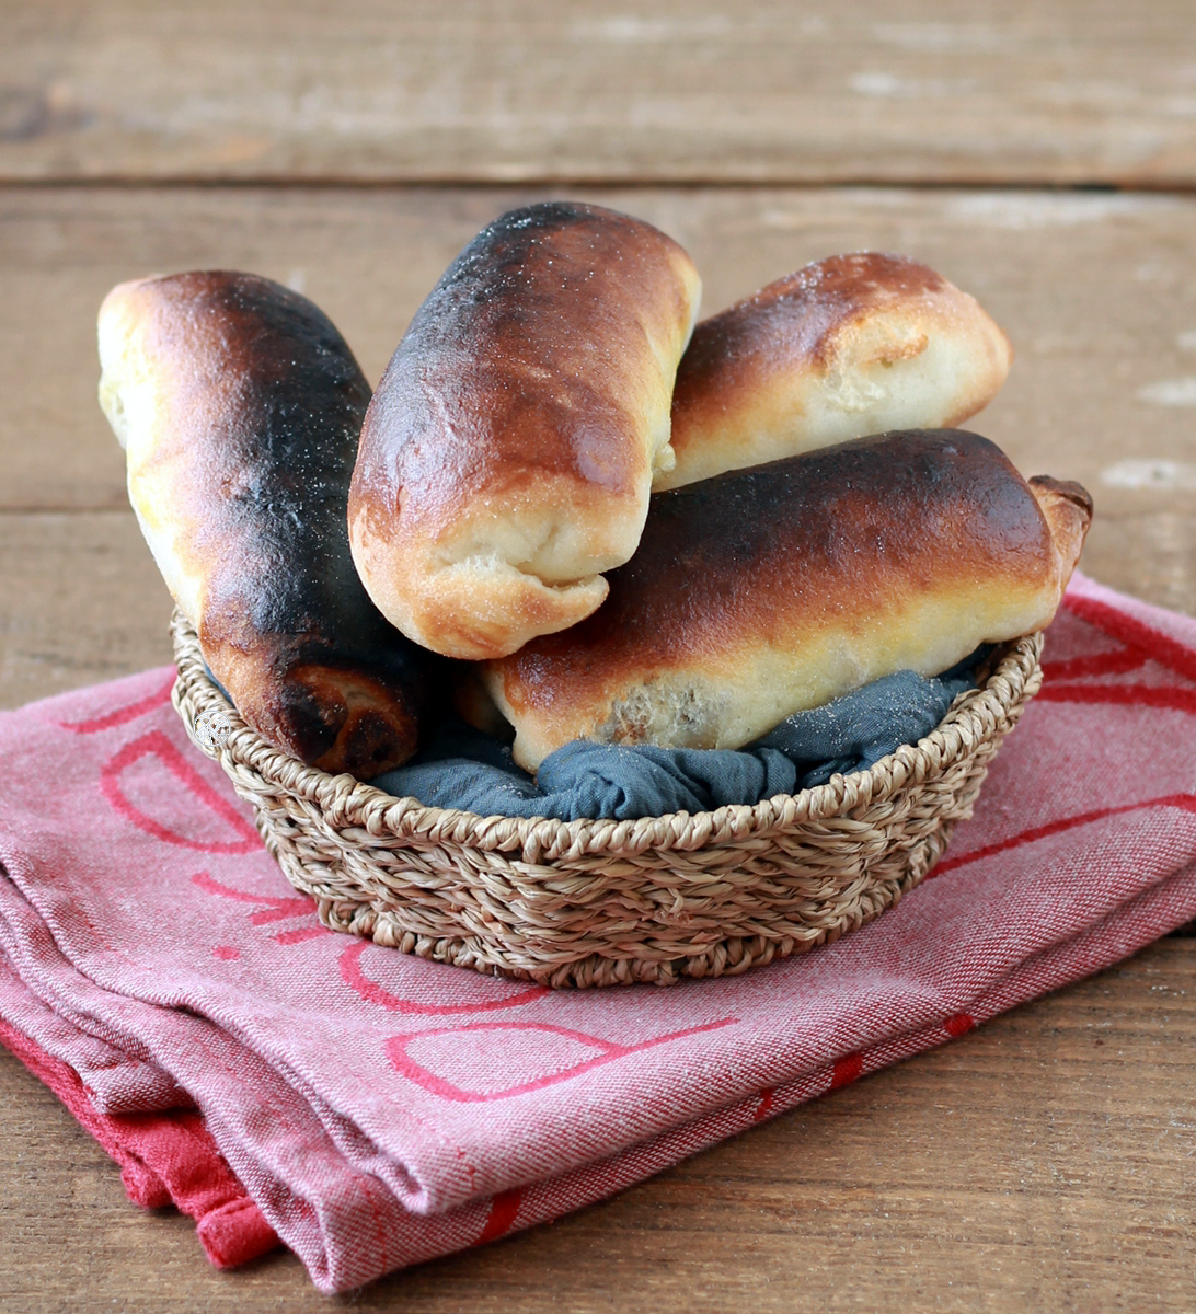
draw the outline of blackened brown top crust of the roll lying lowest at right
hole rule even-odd
[[[498,666],[514,677],[513,706],[540,703],[557,670],[595,660],[618,665],[651,648],[668,665],[694,644],[719,649],[745,625],[770,639],[794,615],[879,615],[898,582],[916,593],[953,570],[974,578],[992,560],[1033,576],[1047,539],[1036,498],[988,439],[959,430],[857,439],[656,494],[639,551],[607,574],[606,603]]]

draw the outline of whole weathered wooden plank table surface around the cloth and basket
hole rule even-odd
[[[1047,11],[1047,12],[1044,12]],[[0,706],[167,661],[95,403],[120,279],[254,269],[377,378],[502,209],[660,225],[715,310],[908,251],[1017,348],[975,427],[1096,495],[1084,569],[1196,614],[1196,9],[1179,0],[0,5]],[[1191,1309],[1196,940],[361,1309]],[[0,1058],[0,1309],[322,1309],[218,1275]]]

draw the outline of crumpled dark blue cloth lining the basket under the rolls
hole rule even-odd
[[[510,745],[447,720],[410,762],[371,783],[397,798],[481,816],[609,817],[708,812],[760,803],[825,784],[836,771],[862,771],[902,744],[929,735],[992,650],[977,649],[941,675],[911,670],[796,712],[743,749],[664,749],[587,744],[549,753],[532,778]]]

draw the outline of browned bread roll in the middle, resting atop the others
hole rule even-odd
[[[606,597],[639,543],[701,281],[657,229],[597,205],[513,210],[432,289],[371,402],[348,501],[389,620],[499,657]]]

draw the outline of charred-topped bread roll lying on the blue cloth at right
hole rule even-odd
[[[527,770],[572,740],[740,748],[1042,628],[1091,512],[1078,484],[1028,484],[952,430],[736,470],[655,497],[606,603],[478,673]]]

